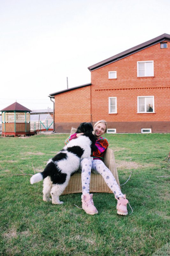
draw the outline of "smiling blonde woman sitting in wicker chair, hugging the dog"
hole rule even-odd
[[[123,195],[112,172],[106,167],[103,162],[104,152],[108,147],[108,141],[106,138],[102,137],[104,133],[107,132],[107,122],[105,120],[100,120],[94,124],[93,134],[97,138],[95,146],[96,150],[92,152],[91,156],[93,160],[82,159],[80,162],[80,168],[82,170],[82,208],[87,214],[97,214],[98,211],[94,206],[92,194],[89,194],[90,187],[90,176],[91,170],[93,173],[100,173],[104,180],[106,181],[108,187],[113,191],[115,199],[117,200],[117,213],[120,215],[127,215],[127,203],[126,195]],[[78,138],[83,133],[74,133],[71,135],[65,143],[67,144],[70,140]]]

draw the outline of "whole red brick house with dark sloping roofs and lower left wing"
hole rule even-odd
[[[88,68],[91,83],[51,93],[55,132],[105,119],[108,132],[170,132],[170,35]]]

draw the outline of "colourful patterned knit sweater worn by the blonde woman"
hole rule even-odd
[[[65,140],[65,145],[67,145],[67,143],[69,143],[70,140],[76,139],[77,138],[77,133],[74,133],[72,135],[70,135],[66,140]],[[96,140],[95,146],[96,146],[96,150],[91,152],[91,156],[94,159],[99,159],[101,161],[103,161],[103,157],[104,157],[104,152],[108,147],[108,141],[106,138],[102,138],[100,137],[100,139]]]

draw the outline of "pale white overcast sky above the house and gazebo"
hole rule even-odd
[[[170,34],[169,0],[0,0],[0,110],[53,108],[89,66]]]

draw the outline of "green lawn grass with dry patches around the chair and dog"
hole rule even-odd
[[[132,171],[121,188],[133,208],[128,216],[116,214],[112,194],[94,194],[99,214],[91,216],[74,206],[81,206],[81,194],[61,196],[63,205],[45,203],[42,182],[31,185],[31,176],[14,176],[43,170],[66,137],[0,138],[0,255],[139,256],[169,242],[169,178],[158,176],[170,175],[170,134],[106,135],[120,184]]]

